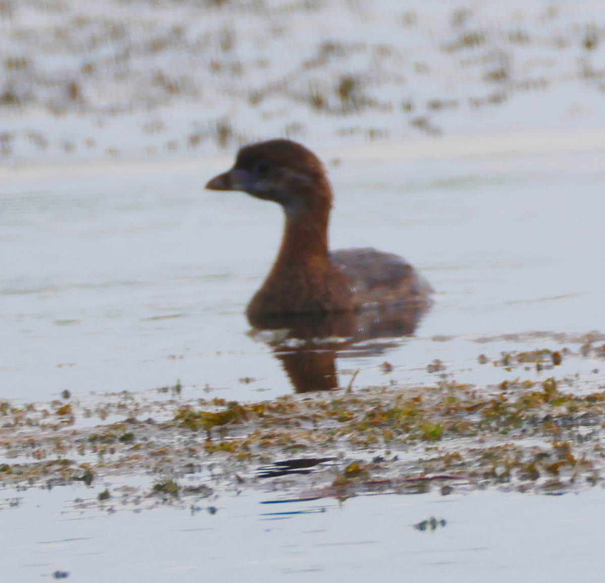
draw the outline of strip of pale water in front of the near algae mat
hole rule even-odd
[[[87,493],[88,494],[88,493]],[[79,510],[82,489],[2,495],[5,577],[38,581],[601,581],[603,491],[531,496],[376,495],[266,504],[263,493],[192,511]],[[211,512],[208,512],[211,509]],[[435,530],[414,525],[434,517]],[[9,535],[10,533],[10,535]],[[405,574],[405,575],[404,575]]]

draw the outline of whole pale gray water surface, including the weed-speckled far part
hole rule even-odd
[[[278,209],[203,191],[231,156],[166,160],[215,151],[220,124],[230,148],[244,134],[293,131],[328,162],[341,159],[329,164],[333,245],[401,253],[438,291],[414,337],[340,355],[342,385],[355,371],[355,388],[434,385],[440,374],[427,364],[440,359],[446,378],[480,387],[574,375],[573,390],[603,390],[603,359],[593,356],[543,372],[477,364],[480,353],[566,346],[506,333],[605,329],[602,3],[1,4],[0,403],[44,402],[64,389],[90,409],[120,401],[101,394],[122,389],[157,401],[171,394],[155,387],[179,378],[183,402],[292,391],[243,317],[278,245]],[[305,102],[317,90],[343,105],[343,76],[353,76],[361,105],[378,107],[335,115]],[[13,84],[22,102],[10,107]],[[423,119],[445,136],[482,135],[424,139]],[[555,131],[535,133],[545,128]],[[326,149],[372,135],[391,140]],[[120,157],[163,160],[65,163]],[[63,165],[8,168],[20,160]],[[474,342],[484,335],[499,340]],[[158,409],[146,414],[160,420]],[[103,420],[77,410],[76,426],[123,421],[116,408]],[[35,443],[37,427],[17,430]],[[34,460],[33,447],[9,449],[9,432],[2,472]],[[56,446],[42,463],[63,455]],[[90,448],[78,459],[102,461],[94,457]],[[208,479],[216,457],[178,475],[215,488],[193,514],[194,496],[184,509],[146,496],[153,470],[99,468],[90,488],[2,490],[3,579],[57,570],[94,582],[603,579],[600,488],[272,505],[260,502],[283,492],[265,484],[283,482],[250,483],[249,468],[232,492],[233,476]],[[99,503],[105,487],[111,499]],[[413,529],[430,516],[445,527]]]

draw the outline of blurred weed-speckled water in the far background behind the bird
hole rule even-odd
[[[588,0],[1,0],[0,159],[603,125]]]

